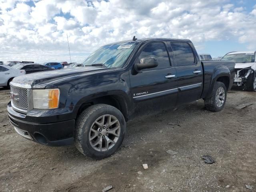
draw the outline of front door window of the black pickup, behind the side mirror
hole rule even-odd
[[[156,60],[158,61],[158,66],[156,68],[158,69],[170,67],[168,52],[166,50],[164,43],[162,42],[154,42],[146,45],[142,52],[140,53],[140,56],[137,58],[136,62],[139,63],[142,58],[146,57],[156,58]]]

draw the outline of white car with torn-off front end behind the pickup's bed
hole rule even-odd
[[[222,61],[234,61],[234,86],[243,86],[246,90],[256,91],[256,52],[230,52],[221,58]]]

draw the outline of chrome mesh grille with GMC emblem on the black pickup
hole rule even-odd
[[[11,86],[12,104],[21,109],[28,109],[28,90]]]

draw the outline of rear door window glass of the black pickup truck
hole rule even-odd
[[[177,63],[177,66],[194,65],[195,58],[192,48],[188,43],[172,42],[172,51]]]

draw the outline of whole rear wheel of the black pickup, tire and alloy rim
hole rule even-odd
[[[226,98],[227,89],[224,83],[215,82],[210,97],[204,99],[204,106],[209,111],[221,111],[225,106]]]

